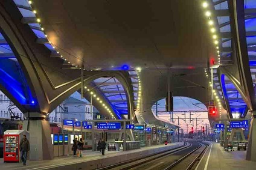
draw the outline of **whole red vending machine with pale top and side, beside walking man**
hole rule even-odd
[[[19,162],[19,142],[29,133],[26,130],[6,130],[4,132],[4,162]]]

